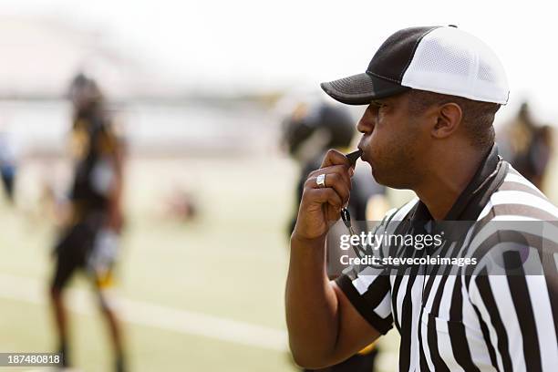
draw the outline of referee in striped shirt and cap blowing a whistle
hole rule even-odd
[[[498,155],[492,123],[509,88],[490,47],[455,26],[411,27],[389,36],[365,73],[322,88],[340,102],[367,105],[356,126],[362,160],[379,183],[418,196],[387,212],[379,229],[413,234],[427,222],[470,222],[433,249],[381,249],[479,264],[457,272],[359,267],[329,281],[325,236],[353,174],[345,156],[330,150],[305,181],[291,236],[286,317],[294,360],[336,364],[395,325],[400,371],[555,371],[558,239],[546,232],[556,229],[558,208]],[[493,262],[503,274],[491,271]]]

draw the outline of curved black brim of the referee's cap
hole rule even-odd
[[[322,83],[320,87],[331,98],[347,105],[367,105],[373,99],[395,96],[410,89],[366,73]]]

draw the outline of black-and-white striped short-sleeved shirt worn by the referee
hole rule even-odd
[[[428,209],[415,199],[387,217],[401,224],[424,221],[425,215]],[[446,218],[463,219],[476,223],[463,240],[440,247],[442,254],[482,260],[498,244],[517,243],[521,235],[529,259],[543,274],[489,275],[484,269],[447,274],[440,267],[418,266],[396,273],[367,267],[336,283],[380,333],[397,327],[400,371],[558,371],[557,241],[518,227],[491,231],[496,221],[550,222],[556,228],[558,208],[493,149]]]

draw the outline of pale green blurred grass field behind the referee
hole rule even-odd
[[[21,182],[36,182],[37,169],[36,164],[24,167]],[[284,175],[282,182],[274,186],[263,182],[278,173]],[[132,304],[212,315],[282,335],[287,263],[284,222],[291,208],[285,201],[291,200],[293,175],[291,165],[284,161],[273,167],[246,160],[235,164],[222,160],[130,162],[119,295]],[[185,185],[193,193],[200,209],[195,221],[180,222],[162,212],[162,201],[175,185]],[[40,212],[14,211],[7,205],[0,208],[0,218],[4,257],[0,260],[0,350],[52,350],[55,336],[47,307],[47,278],[52,270],[53,224]],[[72,287],[89,291],[83,276]],[[71,313],[73,360],[85,371],[107,371],[110,355],[105,325],[94,299],[82,302],[92,311]],[[151,325],[141,316],[136,314],[125,323],[131,370],[293,369],[286,351],[277,346],[247,346],[211,335],[192,335],[188,329],[160,327],[157,321]],[[181,315],[177,316],[180,320]],[[241,326],[239,332],[244,329]],[[278,343],[281,339],[274,341]]]

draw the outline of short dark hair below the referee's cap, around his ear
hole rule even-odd
[[[435,104],[453,102],[459,105],[463,111],[461,122],[467,130],[471,145],[480,150],[491,148],[495,137],[492,123],[496,112],[500,109],[500,104],[419,89],[411,89],[409,95],[408,108],[411,115],[417,115]]]

